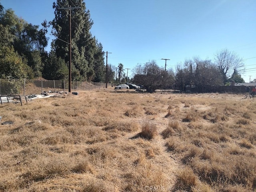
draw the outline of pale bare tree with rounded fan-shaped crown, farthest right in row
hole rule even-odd
[[[216,52],[214,55],[214,64],[219,68],[224,84],[234,72],[239,74],[244,70],[243,58],[240,58],[236,52],[230,52],[227,49]]]

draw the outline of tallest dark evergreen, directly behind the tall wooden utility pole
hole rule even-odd
[[[68,7],[79,7],[75,9],[59,9]],[[69,61],[69,12],[71,12],[71,38],[72,38],[72,80],[93,80],[96,77],[96,62],[102,64],[102,47],[97,45],[95,37],[92,37],[90,29],[92,20],[89,10],[83,0],[57,0],[53,3],[55,18],[51,24],[54,28],[53,34],[54,50],[56,56],[65,62]],[[101,50],[100,50],[101,49]],[[97,58],[94,58],[97,57]],[[104,59],[103,59],[104,61]],[[102,69],[98,70],[99,74]],[[98,79],[99,76],[97,77]]]

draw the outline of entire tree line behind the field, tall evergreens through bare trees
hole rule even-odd
[[[68,9],[70,6],[78,9]],[[56,0],[53,2],[55,17],[41,26],[29,24],[18,18],[12,9],[4,10],[0,4],[0,78],[45,78],[47,80],[68,79],[69,62],[69,11],[72,16],[72,81],[94,81],[118,84],[134,82],[144,85],[148,92],[159,88],[196,86],[204,91],[206,86],[229,85],[232,82],[244,82],[241,73],[244,70],[243,59],[227,49],[217,51],[214,59],[194,57],[179,63],[176,71],[160,68],[152,60],[137,64],[132,69],[133,78],[126,76],[124,65],[117,67],[108,64],[107,73],[104,64],[103,46],[93,36],[90,29],[93,21],[90,11],[86,10],[83,0]],[[49,52],[45,50],[49,38],[46,37],[52,27]]]

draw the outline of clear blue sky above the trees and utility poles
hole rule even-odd
[[[54,18],[54,0],[0,0],[29,23]],[[150,60],[172,68],[198,56],[213,59],[227,48],[244,58],[245,82],[256,78],[256,0],[84,0],[92,35],[108,64],[132,68]],[[49,34],[48,37],[53,38]],[[50,42],[49,42],[50,44]],[[50,47],[47,48],[50,50]],[[105,58],[106,62],[106,58]],[[127,69],[125,70],[127,73]]]

